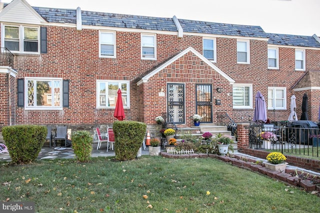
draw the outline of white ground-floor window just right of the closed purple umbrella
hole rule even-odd
[[[268,88],[268,109],[286,109],[286,88]]]

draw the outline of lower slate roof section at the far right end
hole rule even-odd
[[[304,35],[287,35],[267,33],[269,36],[268,44],[286,45],[286,46],[304,46],[304,47],[320,47],[312,36]]]

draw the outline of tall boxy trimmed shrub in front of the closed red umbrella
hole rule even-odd
[[[119,161],[133,160],[142,145],[146,124],[137,121],[115,121],[114,152]]]

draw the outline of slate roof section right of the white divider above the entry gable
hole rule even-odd
[[[260,26],[179,19],[183,32],[267,38]]]

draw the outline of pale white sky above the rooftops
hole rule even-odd
[[[0,0],[10,2],[11,0]],[[26,0],[54,7],[261,26],[265,32],[320,36],[320,0]]]

